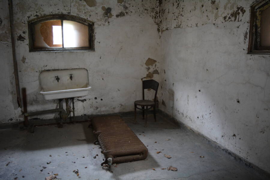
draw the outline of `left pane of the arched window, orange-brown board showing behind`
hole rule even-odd
[[[51,20],[35,25],[35,48],[62,48],[61,20]]]

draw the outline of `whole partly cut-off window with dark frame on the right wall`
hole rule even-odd
[[[270,54],[270,0],[251,5],[248,53]]]

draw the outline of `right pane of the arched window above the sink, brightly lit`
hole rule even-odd
[[[89,47],[88,26],[74,22],[63,21],[64,47]]]

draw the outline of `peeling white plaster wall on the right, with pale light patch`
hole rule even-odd
[[[270,173],[270,56],[247,54],[253,1],[163,1],[164,111]]]

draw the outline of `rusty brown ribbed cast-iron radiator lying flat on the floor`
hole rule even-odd
[[[147,158],[148,149],[120,116],[101,116],[92,119],[93,132],[98,138],[101,153],[113,164],[138,161]]]

